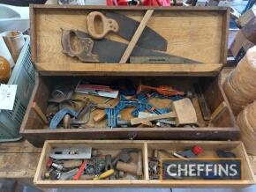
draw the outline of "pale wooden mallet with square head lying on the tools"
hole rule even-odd
[[[158,114],[146,118],[132,118],[131,124],[137,125],[141,122],[151,122],[169,118],[175,118],[177,125],[197,123],[197,114],[190,99],[184,98],[183,100],[176,100],[172,103],[172,108],[173,111],[167,114]]]

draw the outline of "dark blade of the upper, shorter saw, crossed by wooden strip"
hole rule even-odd
[[[132,36],[139,26],[138,21],[132,18],[127,18],[124,15],[112,11],[107,12],[106,17],[115,19],[117,21],[119,26],[117,34],[119,36],[123,37],[127,41],[132,40]],[[147,48],[160,51],[166,51],[167,49],[167,41],[159,33],[156,33],[148,26],[146,26],[143,32],[141,33],[137,45],[140,48]]]

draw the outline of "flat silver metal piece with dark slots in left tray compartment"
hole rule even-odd
[[[53,159],[91,159],[92,147],[56,147],[49,157]]]

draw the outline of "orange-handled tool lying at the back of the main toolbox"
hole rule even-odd
[[[160,85],[158,87],[139,85],[137,93],[142,92],[143,90],[152,90],[164,96],[184,95],[184,92],[178,92],[177,90],[175,90],[169,85]]]

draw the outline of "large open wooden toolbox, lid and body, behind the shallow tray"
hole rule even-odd
[[[32,55],[38,71],[36,85],[27,107],[20,133],[26,139],[41,146],[47,139],[232,139],[238,137],[239,129],[234,115],[220,86],[220,70],[226,63],[229,10],[226,8],[154,8],[154,15],[147,26],[154,29],[168,42],[166,53],[183,56],[199,63],[147,64],[147,63],[81,63],[62,51],[62,28],[87,32],[87,14],[91,11],[118,11],[129,18],[141,20],[147,7],[102,7],[102,6],[53,6],[32,5],[31,39]],[[110,40],[124,41],[113,33]],[[94,123],[93,116],[87,129],[49,129],[44,116],[48,100],[56,85],[77,85],[81,78],[100,82],[127,78],[135,86],[171,85],[180,91],[192,91],[199,127],[128,127],[107,128],[107,120]],[[222,103],[226,110],[215,122],[202,117],[199,95],[193,85],[199,84],[210,114],[214,114]],[[95,99],[102,102],[103,99]],[[169,103],[152,100],[157,107]],[[130,109],[122,111],[122,117],[131,118]]]

